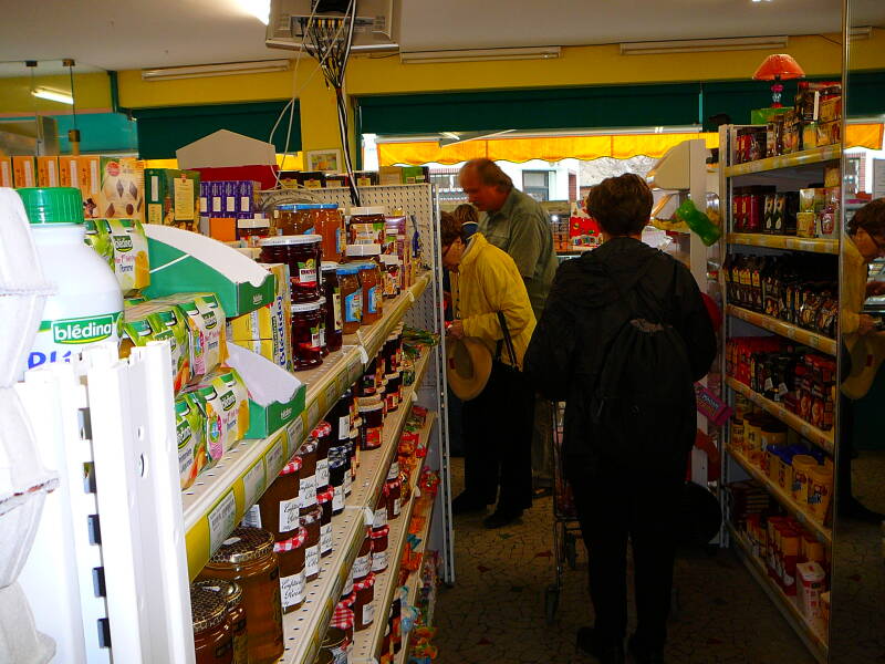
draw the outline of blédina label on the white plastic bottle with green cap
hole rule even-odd
[[[100,341],[118,342],[119,317],[119,312],[114,312],[41,321],[31,353],[28,355],[28,369],[70,362],[81,350]]]

